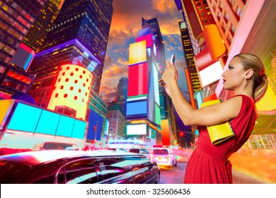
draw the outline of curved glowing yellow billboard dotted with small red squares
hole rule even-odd
[[[91,71],[82,66],[62,65],[47,108],[58,110],[62,106],[69,107],[72,115],[76,111],[76,117],[85,120],[92,78]]]

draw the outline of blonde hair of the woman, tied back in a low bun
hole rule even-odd
[[[253,93],[254,100],[257,102],[263,97],[265,91],[268,89],[268,77],[265,74],[265,66],[262,60],[256,55],[249,53],[236,54],[234,57],[241,59],[241,64],[243,64],[243,69],[245,71],[253,69]]]

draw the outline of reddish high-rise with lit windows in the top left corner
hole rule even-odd
[[[27,93],[33,83],[34,76],[11,63],[11,59],[45,1],[0,1],[0,98],[18,92]]]

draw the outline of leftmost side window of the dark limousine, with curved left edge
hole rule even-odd
[[[58,183],[93,184],[98,182],[93,160],[77,160],[59,170]]]

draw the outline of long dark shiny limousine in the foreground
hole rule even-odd
[[[137,153],[49,150],[0,156],[1,184],[142,184],[159,180],[156,163]]]

